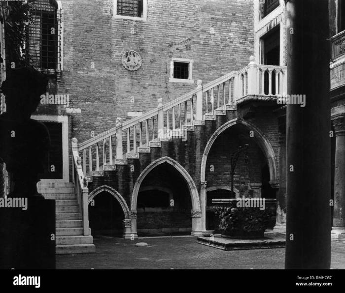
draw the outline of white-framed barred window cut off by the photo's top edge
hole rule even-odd
[[[146,20],[146,0],[114,0],[114,17]]]

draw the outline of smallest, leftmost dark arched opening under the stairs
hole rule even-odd
[[[94,237],[121,237],[124,213],[120,203],[107,191],[97,194],[89,204],[89,225]]]

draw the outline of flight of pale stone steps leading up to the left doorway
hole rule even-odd
[[[56,254],[95,252],[93,237],[83,235],[74,183],[39,184],[38,192],[45,199],[55,200]]]

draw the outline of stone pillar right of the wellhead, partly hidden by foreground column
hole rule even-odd
[[[286,116],[278,118],[279,190],[276,193],[276,226],[273,232],[286,232]]]

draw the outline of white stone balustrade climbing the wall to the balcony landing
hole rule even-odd
[[[162,139],[183,138],[186,130],[193,129],[195,121],[214,116],[215,110],[226,110],[226,105],[235,106],[243,97],[275,97],[285,91],[286,67],[256,64],[251,56],[249,64],[241,70],[206,85],[198,80],[196,89],[165,105],[160,98],[157,108],[140,117],[124,123],[117,118],[115,127],[78,146],[77,150],[82,152],[82,173],[92,176],[93,172],[114,170],[113,165],[126,164],[127,158],[138,158],[139,152],[149,152],[149,147],[158,146]]]

